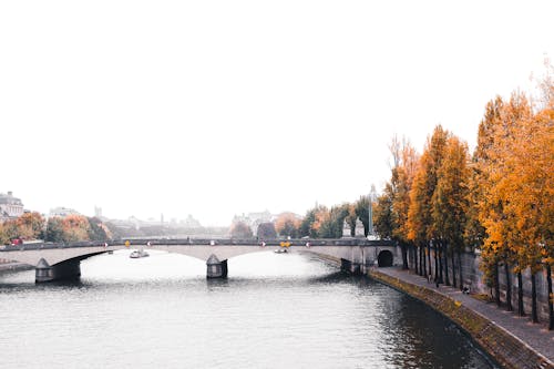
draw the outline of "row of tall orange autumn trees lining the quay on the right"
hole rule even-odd
[[[548,66],[548,72],[554,72]],[[511,274],[517,276],[519,314],[524,315],[522,271],[532,281],[532,319],[537,321],[535,276],[545,270],[550,328],[554,328],[554,83],[541,83],[542,99],[514,92],[489,102],[478,145],[468,145],[440,125],[419,155],[393,139],[391,178],[375,204],[376,230],[399,242],[420,275],[462,288],[461,253],[481,250],[481,268],[500,305],[499,273],[506,276],[506,308],[512,310]],[[449,275],[452,270],[452,276]]]

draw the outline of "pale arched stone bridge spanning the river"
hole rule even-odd
[[[80,263],[94,255],[119,249],[156,249],[192,256],[206,263],[208,278],[227,277],[232,257],[267,250],[312,253],[340,264],[343,270],[359,274],[369,266],[401,263],[400,247],[391,240],[340,239],[127,239],[71,244],[23,244],[0,246],[0,257],[35,267],[35,281],[81,276]]]

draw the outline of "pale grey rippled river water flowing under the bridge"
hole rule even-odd
[[[130,250],[73,283],[0,275],[0,368],[496,368],[453,324],[309,255]]]

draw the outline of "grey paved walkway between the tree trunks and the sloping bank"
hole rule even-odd
[[[427,287],[461,301],[465,307],[481,314],[483,317],[504,328],[513,336],[525,342],[535,351],[554,362],[554,330],[548,330],[545,324],[533,324],[531,318],[519,317],[514,312],[497,308],[494,303],[486,303],[464,295],[459,289],[441,285],[429,284],[427,278],[400,268],[379,268],[379,271],[407,283]]]

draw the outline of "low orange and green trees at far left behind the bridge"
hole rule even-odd
[[[9,244],[14,238],[53,243],[107,240],[111,233],[102,221],[95,217],[69,215],[45,221],[41,214],[33,212],[0,224],[0,244]]]

